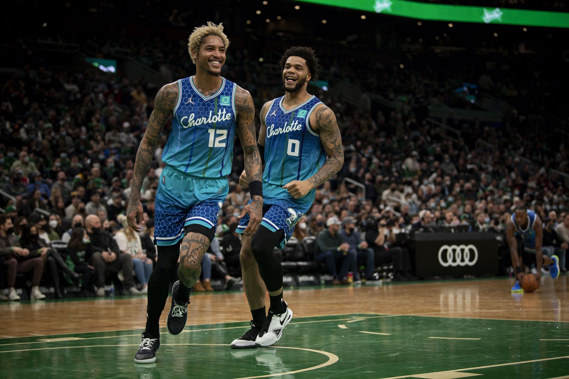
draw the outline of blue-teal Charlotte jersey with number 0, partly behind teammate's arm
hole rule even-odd
[[[321,101],[312,96],[291,110],[284,110],[284,97],[271,101],[265,115],[265,170],[263,185],[266,204],[295,203],[300,209],[310,208],[316,191],[294,199],[282,186],[293,180],[307,180],[326,160],[320,135],[310,126],[310,115]],[[308,209],[306,209],[308,210]],[[305,210],[305,211],[306,211]]]

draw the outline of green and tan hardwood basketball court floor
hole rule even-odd
[[[568,282],[544,276],[523,295],[507,278],[287,290],[281,341],[245,350],[228,346],[248,328],[244,295],[197,294],[151,365],[133,361],[146,298],[4,303],[0,377],[564,378]]]

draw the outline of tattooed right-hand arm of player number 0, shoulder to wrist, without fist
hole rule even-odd
[[[320,132],[320,141],[328,155],[328,159],[318,172],[308,178],[315,188],[340,171],[344,164],[342,136],[336,122],[336,115],[328,107],[320,107],[316,111],[316,126]]]

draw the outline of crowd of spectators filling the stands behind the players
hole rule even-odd
[[[20,42],[26,51],[26,42]],[[178,44],[145,50],[141,43],[137,48],[141,57],[162,51],[173,79],[193,71],[187,51]],[[262,103],[282,95],[278,73],[270,76],[246,52],[234,53],[236,59],[223,74],[251,92],[257,112]],[[176,66],[176,59],[185,63]],[[451,140],[424,120],[428,106],[452,101],[440,88],[426,85],[428,70],[405,73],[371,61],[358,71],[346,66],[353,57],[341,56],[321,55],[320,62],[328,79],[352,78],[394,105],[379,105],[366,94],[367,101],[356,107],[338,92],[309,87],[336,113],[345,163],[316,190],[314,205],[293,238],[315,239],[307,259],[320,262],[335,284],[347,282],[350,272],[355,281],[375,280],[374,268],[384,263],[393,264],[395,280],[409,280],[414,252],[401,236],[461,224],[472,232],[502,234],[518,203],[542,219],[544,252],[564,256],[569,151],[555,134],[531,134],[522,117],[508,127],[475,127],[451,114],[448,124],[461,132],[457,141]],[[7,289],[7,298],[18,299],[14,286],[22,273],[30,278],[36,299],[44,297],[42,278],[54,285],[56,297],[64,295],[62,280],[81,282],[84,295],[104,295],[110,281],[121,282],[124,293],[146,293],[156,261],[154,198],[169,124],[142,184],[146,223],[140,235],[127,226],[124,214],[134,155],[157,89],[142,79],[40,65],[1,78],[0,207],[5,214],[0,215],[0,288]],[[530,96],[525,88],[516,89],[520,97]],[[243,169],[238,143],[234,150],[230,193],[197,290],[212,289],[212,274],[227,288],[241,274],[241,244],[234,230],[249,194],[238,185]],[[53,241],[67,244],[65,252],[52,247]],[[562,269],[564,265],[562,259]]]

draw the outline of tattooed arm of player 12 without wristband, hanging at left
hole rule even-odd
[[[130,190],[129,207],[126,210],[129,226],[138,233],[140,233],[141,228],[136,222],[137,214],[139,222],[144,223],[142,204],[140,202],[142,181],[146,176],[152,157],[154,157],[154,149],[162,128],[172,115],[176,102],[178,102],[177,83],[167,84],[158,91],[154,99],[154,110],[146,126],[146,132],[138,145],[137,156],[134,160],[133,185]]]

